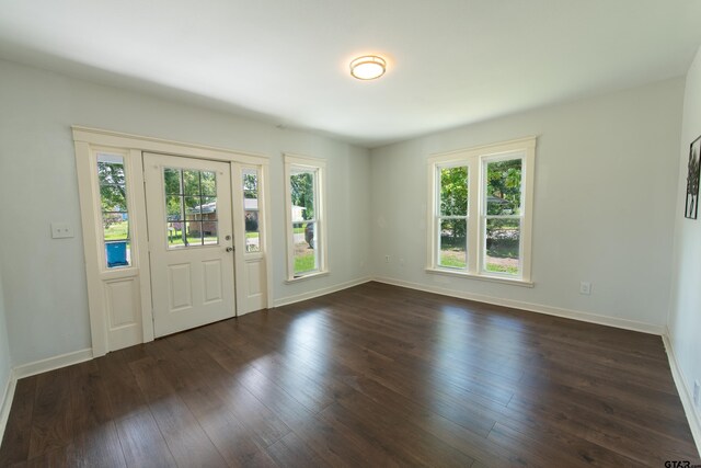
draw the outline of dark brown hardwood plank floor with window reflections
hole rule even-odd
[[[18,383],[0,466],[699,464],[659,336],[368,283]]]

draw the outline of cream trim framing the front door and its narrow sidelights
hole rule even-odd
[[[146,343],[153,341],[153,316],[151,311],[151,288],[148,252],[148,233],[146,224],[146,197],[143,192],[143,165],[142,152],[160,152],[173,156],[184,156],[187,158],[209,159],[241,163],[245,165],[257,165],[261,168],[262,185],[261,194],[263,199],[269,201],[268,168],[269,160],[262,155],[254,155],[243,151],[234,151],[225,148],[216,148],[197,144],[171,141],[160,138],[146,137],[139,135],[124,134],[118,132],[72,126],[73,141],[76,144],[76,163],[78,170],[78,185],[80,192],[80,207],[82,216],[83,249],[85,253],[85,270],[88,284],[88,300],[90,309],[90,324],[92,335],[93,356],[102,356],[111,349],[107,340],[106,305],[105,305],[105,281],[123,276],[123,272],[104,272],[101,267],[102,248],[102,221],[96,216],[99,206],[99,191],[95,189],[95,178],[91,156],[96,149],[107,148],[108,150],[124,153],[130,167],[130,187],[128,189],[133,204],[130,216],[134,219],[133,238],[137,246],[135,249],[134,267],[128,270],[138,276],[137,284],[140,293],[140,316],[142,323],[142,340]],[[97,198],[96,198],[97,197]],[[269,209],[264,204],[263,218],[264,226],[269,227]],[[263,262],[265,264],[266,286],[263,307],[273,305],[272,284],[272,236],[266,232],[263,237]],[[134,343],[136,344],[136,343]]]

